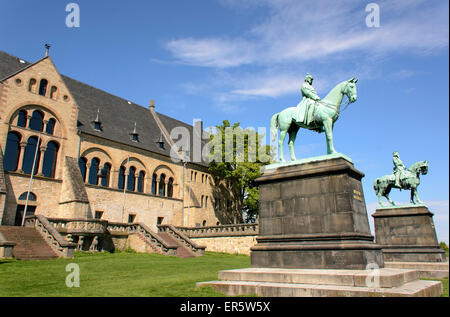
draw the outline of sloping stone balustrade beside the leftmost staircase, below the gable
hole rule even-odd
[[[60,257],[72,258],[76,245],[64,240],[61,234],[42,215],[29,216],[25,218],[26,227],[34,227],[44,238],[45,242]]]

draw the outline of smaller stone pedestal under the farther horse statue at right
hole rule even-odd
[[[433,214],[424,205],[379,208],[372,215],[386,262],[445,262]]]

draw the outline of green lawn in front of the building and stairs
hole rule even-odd
[[[66,286],[66,265],[80,269],[80,287]],[[74,259],[0,261],[0,297],[215,297],[196,282],[217,280],[220,270],[250,266],[250,257],[210,253],[177,258],[132,252],[76,253]]]

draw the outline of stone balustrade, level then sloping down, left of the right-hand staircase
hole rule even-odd
[[[138,234],[156,253],[174,256],[177,254],[177,245],[165,241],[143,223],[108,223],[108,231],[114,234]]]

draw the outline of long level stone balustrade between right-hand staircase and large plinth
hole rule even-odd
[[[221,225],[209,227],[176,227],[189,238],[226,237],[226,236],[253,236],[258,235],[257,223],[237,225]]]

